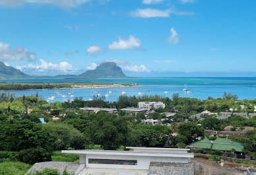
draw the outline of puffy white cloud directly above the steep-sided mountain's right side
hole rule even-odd
[[[110,50],[116,50],[116,49],[136,49],[141,47],[141,40],[134,36],[129,36],[127,40],[122,39],[121,37],[118,38],[118,41],[113,41],[108,46],[108,49]]]

